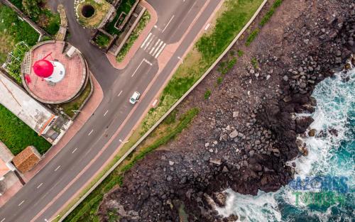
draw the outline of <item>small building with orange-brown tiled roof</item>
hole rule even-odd
[[[16,157],[13,157],[13,165],[22,173],[28,172],[33,169],[40,161],[40,153],[33,146],[28,146],[22,150]]]

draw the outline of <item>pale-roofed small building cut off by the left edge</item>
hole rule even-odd
[[[0,196],[6,192],[6,189],[18,182],[12,160],[11,151],[0,141]]]

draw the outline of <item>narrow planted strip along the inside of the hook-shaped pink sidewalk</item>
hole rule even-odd
[[[124,43],[124,47],[122,47],[121,51],[119,51],[119,55],[117,55],[117,62],[122,62],[124,60],[124,57],[126,57],[132,45],[137,40],[139,35],[141,35],[141,32],[143,31],[144,28],[146,28],[146,25],[150,20],[151,20],[151,14],[148,11],[144,12],[138,25],[136,26],[136,28],[134,28],[133,32],[129,36],[129,39],[126,41],[126,43]]]

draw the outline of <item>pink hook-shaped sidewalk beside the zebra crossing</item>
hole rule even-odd
[[[129,49],[129,52],[127,53],[126,57],[124,57],[124,60],[122,62],[117,62],[116,57],[112,55],[111,53],[107,53],[106,56],[109,59],[109,62],[113,67],[115,67],[118,70],[123,70],[126,65],[129,64],[131,61],[132,57],[136,54],[138,49],[141,47],[143,41],[146,39],[148,34],[151,32],[151,29],[154,27],[155,23],[158,21],[158,15],[153,9],[153,7],[148,4],[146,1],[141,1],[141,6],[146,7],[147,11],[151,14],[151,20],[147,24],[146,28],[143,29],[141,32],[141,35],[137,38],[136,42],[133,43],[132,47]]]

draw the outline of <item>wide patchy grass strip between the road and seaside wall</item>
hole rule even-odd
[[[228,47],[235,36],[248,23],[262,0],[226,0],[215,26],[197,41],[194,50],[185,58],[160,96],[160,103],[143,120],[141,135],[175,104],[185,92],[206,72]],[[220,81],[222,82],[222,81]]]

